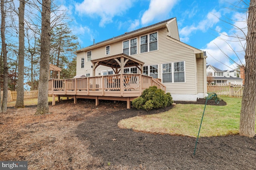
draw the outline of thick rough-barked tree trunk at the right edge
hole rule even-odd
[[[240,114],[239,134],[250,138],[255,136],[256,104],[256,0],[248,8],[248,33],[245,51],[245,83]]]

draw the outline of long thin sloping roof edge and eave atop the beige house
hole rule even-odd
[[[95,43],[95,44],[90,45],[90,46],[88,46],[88,47],[79,49],[79,50],[77,50],[77,51],[75,51],[75,52],[77,53],[77,52],[81,52],[81,51],[87,51],[88,49],[90,49],[90,48],[92,48],[92,47],[96,47],[96,46],[98,46],[98,45],[100,45],[100,44],[103,44],[104,42],[109,42],[109,41],[117,40],[117,39],[120,39],[120,38],[124,38],[124,37],[126,37],[126,36],[131,35],[131,34],[136,34],[136,33],[142,32],[142,31],[144,31],[144,30],[147,30],[147,29],[149,29],[149,28],[154,28],[154,27],[157,27],[157,28],[158,28],[158,27],[160,27],[160,26],[166,26],[166,24],[167,24],[168,22],[170,22],[171,20],[174,20],[174,19],[176,19],[176,18],[170,18],[170,19],[168,19],[168,20],[164,20],[164,21],[158,22],[158,23],[156,23],[156,24],[152,24],[152,25],[150,25],[150,26],[146,26],[146,27],[143,27],[143,28],[140,28],[140,29],[131,31],[131,32],[126,32],[126,33],[124,33],[124,34],[122,34],[122,35],[120,35],[120,36],[116,36],[116,37],[110,38],[110,39],[108,39],[108,40],[104,40],[104,41],[102,41],[102,42]]]

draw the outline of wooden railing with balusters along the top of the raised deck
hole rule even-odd
[[[166,91],[157,79],[142,74],[114,74],[76,79],[50,79],[49,91],[143,91],[150,86]]]

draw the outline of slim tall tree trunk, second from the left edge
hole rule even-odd
[[[15,108],[24,108],[24,9],[25,0],[20,0],[19,7],[19,54],[18,54],[18,83]]]

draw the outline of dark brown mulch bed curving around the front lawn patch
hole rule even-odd
[[[181,104],[205,104],[205,99]],[[208,101],[209,102],[209,101]],[[214,105],[215,102],[208,104]],[[220,102],[218,105],[226,105]],[[152,111],[123,109],[90,117],[76,129],[78,138],[90,142],[88,150],[97,161],[86,168],[101,169],[255,169],[256,137],[238,135],[201,137],[193,156],[196,138],[134,132],[120,129],[120,120],[172,109]],[[109,166],[106,166],[109,165]],[[128,167],[128,168],[127,168]]]

